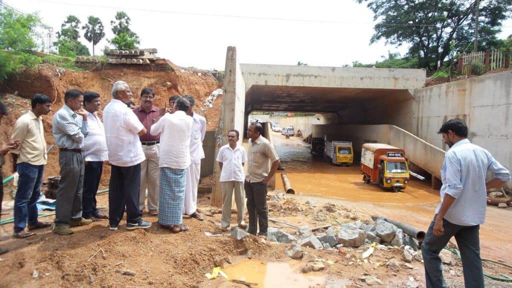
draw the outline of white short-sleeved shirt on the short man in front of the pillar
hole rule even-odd
[[[237,144],[234,150],[229,144],[222,146],[217,154],[217,161],[222,162],[221,182],[244,181],[243,163],[247,162],[247,154],[242,146]]]

